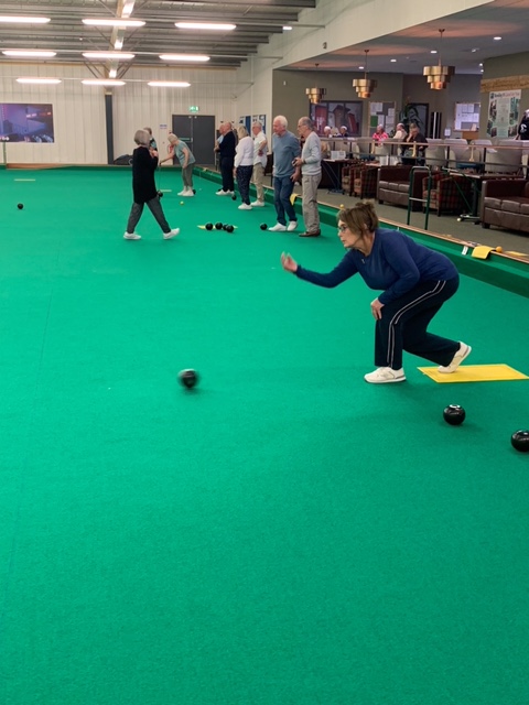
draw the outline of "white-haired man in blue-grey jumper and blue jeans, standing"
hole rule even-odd
[[[294,184],[300,178],[301,170],[294,162],[301,154],[298,138],[288,130],[287,118],[278,115],[273,118],[273,205],[278,214],[278,223],[269,228],[272,232],[292,232],[298,227],[295,210],[290,203]],[[285,214],[289,217],[287,226]]]

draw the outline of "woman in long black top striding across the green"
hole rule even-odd
[[[126,240],[141,240],[141,235],[136,232],[136,226],[141,218],[145,204],[156,219],[158,225],[162,228],[164,240],[170,240],[180,232],[179,228],[174,230],[171,229],[163,215],[160,195],[154,182],[154,172],[158,167],[158,152],[149,147],[150,140],[151,135],[147,130],[136,131],[134,142],[138,147],[132,152],[132,193],[134,200],[130,209],[127,230],[123,235]]]

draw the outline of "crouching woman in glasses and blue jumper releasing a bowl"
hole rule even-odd
[[[284,252],[281,264],[319,286],[332,289],[359,274],[370,289],[382,292],[370,304],[377,369],[364,376],[366,382],[403,382],[402,351],[439,365],[440,372],[455,372],[471,346],[428,332],[433,316],[460,284],[449,258],[399,230],[380,228],[370,203],[359,202],[338,213],[338,237],[348,252],[326,274],[304,269]]]

